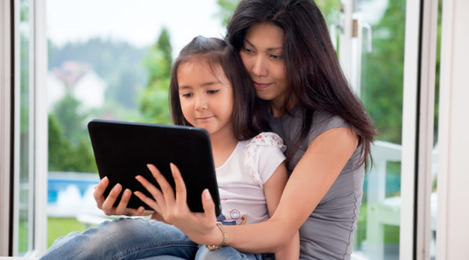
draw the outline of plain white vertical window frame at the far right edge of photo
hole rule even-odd
[[[467,259],[469,1],[442,1],[436,259]]]

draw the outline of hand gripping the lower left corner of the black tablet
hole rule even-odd
[[[114,207],[114,202],[116,202],[117,197],[121,193],[122,186],[120,184],[115,185],[107,198],[104,197],[104,191],[109,185],[109,179],[107,177],[101,179],[94,187],[94,200],[96,201],[96,205],[100,210],[103,210],[104,214],[107,216],[110,215],[127,215],[127,216],[142,216],[142,215],[150,215],[153,211],[144,210],[144,207],[141,206],[140,208],[127,208],[128,200],[131,198],[132,192],[130,189],[124,190],[124,194],[122,194],[121,201],[117,207]]]

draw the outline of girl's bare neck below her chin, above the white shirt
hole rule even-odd
[[[218,133],[210,135],[211,152],[214,156],[215,168],[222,166],[230,157],[238,140],[232,133]]]

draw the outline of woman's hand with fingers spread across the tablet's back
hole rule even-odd
[[[176,196],[174,196],[171,185],[158,171],[158,168],[153,164],[148,164],[147,167],[160,185],[161,190],[142,176],[137,175],[135,178],[150,192],[153,198],[145,196],[142,192],[134,192],[134,194],[163,217],[165,222],[177,226],[195,243],[202,245],[220,244],[223,241],[223,233],[216,226],[215,203],[208,189],[204,189],[202,192],[204,212],[191,212],[187,205],[186,185],[177,166],[170,164],[172,177],[176,184]]]

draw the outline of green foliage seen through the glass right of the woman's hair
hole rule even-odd
[[[373,52],[362,59],[362,101],[378,139],[401,143],[405,1],[389,1],[373,26]]]

